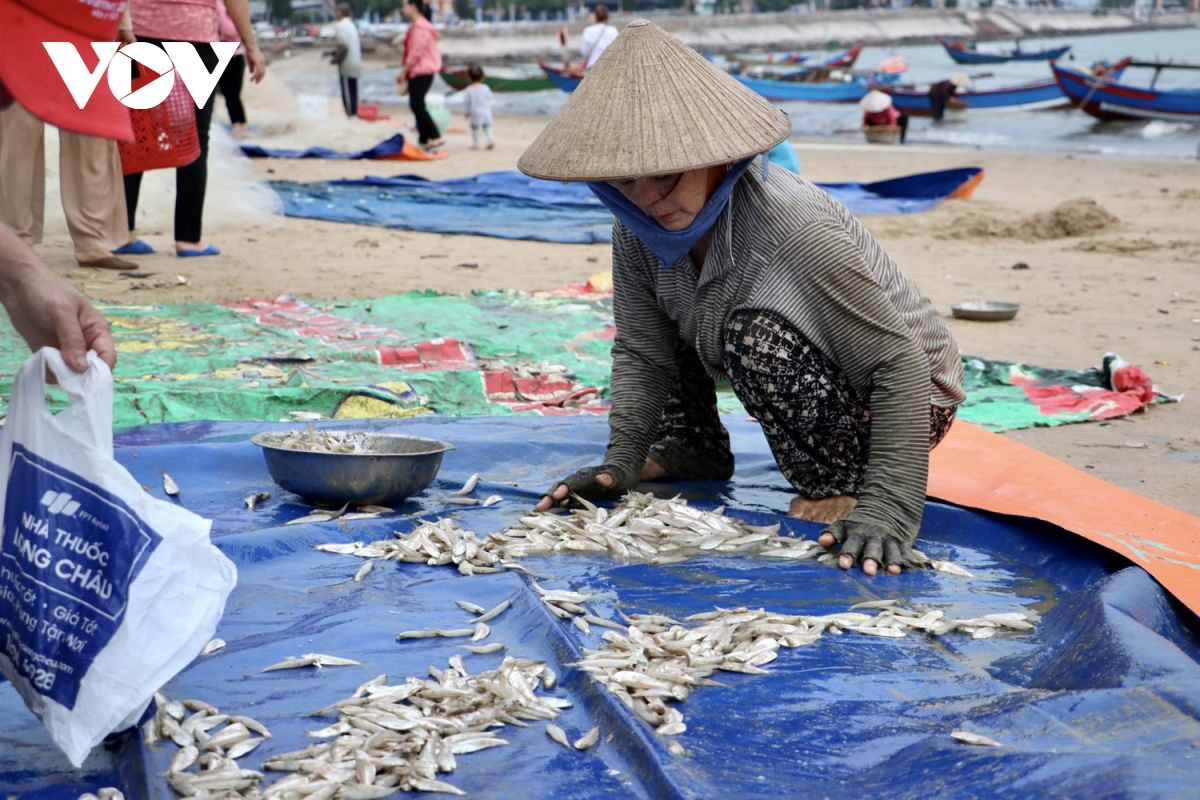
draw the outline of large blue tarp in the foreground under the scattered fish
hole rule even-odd
[[[655,487],[690,501],[764,522],[791,493],[756,425],[725,420],[738,458],[730,483]],[[880,597],[944,608],[958,616],[1034,608],[1045,614],[1032,633],[991,639],[823,637],[784,650],[770,675],[720,675],[727,687],[696,691],[682,705],[690,754],[631,717],[590,679],[563,664],[600,644],[547,614],[528,578],[516,573],[462,577],[450,567],[379,565],[361,583],[361,561],[318,553],[323,542],[372,541],[409,530],[416,516],[446,513],[433,498],[484,474],[476,493],[505,501],[457,511],[485,533],[515,523],[540,489],[565,471],[594,463],[607,440],[605,420],[422,417],[403,425],[362,423],[452,441],[433,487],[386,519],[280,527],[307,513],[275,487],[247,439],[254,423],[146,426],[119,437],[118,458],[146,486],[168,470],[180,501],[214,519],[216,545],[239,570],[217,634],[229,644],[172,680],[173,697],[197,697],[268,724],[274,739],[242,766],[312,740],[305,730],[329,720],[301,715],[348,697],[386,673],[391,682],[444,667],[454,640],[395,640],[400,631],[460,626],[455,600],[491,607],[511,597],[488,640],[516,656],[545,658],[563,676],[557,694],[575,703],[560,721],[580,735],[594,724],[601,745],[563,750],[541,724],[505,728],[512,744],[458,759],[449,780],[473,798],[1135,798],[1194,796],[1200,781],[1200,649],[1194,619],[1140,567],[1044,523],[930,503],[922,549],[971,570],[972,579],[941,572],[866,578],[811,561],[704,558],[671,566],[628,565],[564,555],[524,564],[545,587],[587,588],[617,610],[683,615],[720,604],[788,613],[827,613]],[[516,481],[520,488],[502,485]],[[269,489],[272,499],[247,511],[242,498]],[[156,489],[157,491],[157,489]],[[814,536],[817,525],[785,521]],[[284,656],[328,652],[362,667],[259,670]],[[468,656],[475,669],[500,656]],[[998,748],[956,744],[968,729]],[[174,745],[144,748],[132,735],[114,751],[97,750],[74,772],[16,692],[0,685],[0,796],[76,796],[119,786],[127,798],[169,798],[161,777]],[[271,777],[275,777],[274,775]]]

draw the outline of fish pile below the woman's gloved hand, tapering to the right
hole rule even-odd
[[[781,648],[812,644],[824,633],[905,638],[910,630],[932,636],[962,631],[979,639],[1001,628],[1032,630],[1037,616],[1009,613],[948,619],[937,609],[920,612],[895,600],[878,600],[823,615],[719,608],[682,621],[661,614],[632,614],[626,619],[625,633],[605,631],[607,644],[584,649],[583,660],[572,666],[590,674],[660,735],[672,736],[688,726],[678,709],[666,705],[668,702],[688,699],[696,686],[720,686],[712,680],[718,670],[764,675],[762,667],[774,661]],[[682,754],[682,747],[668,750]]]

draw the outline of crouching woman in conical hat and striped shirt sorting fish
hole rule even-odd
[[[964,399],[946,323],[844,206],[757,157],[791,133],[757,94],[647,20],[593,73],[517,162],[617,217],[607,452],[538,509],[728,480],[727,378],[844,569],[914,564],[929,450]]]

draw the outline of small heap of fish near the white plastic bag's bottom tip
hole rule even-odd
[[[252,717],[221,714],[204,700],[169,700],[156,692],[155,702],[157,711],[142,726],[142,738],[146,745],[161,739],[179,745],[167,770],[175,792],[188,798],[258,796],[263,774],[239,768],[235,759],[270,739],[266,726]]]

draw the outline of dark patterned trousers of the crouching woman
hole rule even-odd
[[[649,457],[672,477],[728,480],[733,452],[716,411],[716,384],[695,349],[680,344],[676,362],[678,378]],[[869,398],[808,337],[776,314],[737,312],[725,329],[725,371],[802,497],[862,492],[871,446]],[[956,410],[930,407],[930,450],[950,429]]]

